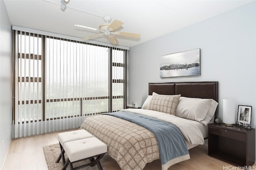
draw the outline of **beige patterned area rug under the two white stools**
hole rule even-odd
[[[62,159],[60,160],[59,163],[56,163],[56,160],[58,159],[58,156],[60,154],[60,145],[59,144],[54,144],[54,145],[49,145],[46,147],[43,147],[44,150],[44,156],[46,159],[46,163],[48,166],[49,170],[61,170],[63,165],[62,165]],[[67,160],[67,155],[65,154],[65,158]],[[100,160],[100,164],[103,168],[103,170],[105,170],[105,166],[104,166],[104,161],[107,160],[112,160],[112,158],[110,156],[108,156],[107,154],[105,154],[102,159]],[[84,165],[89,163],[90,160],[84,160],[81,162],[77,162],[74,164],[74,167],[80,166],[80,165]],[[68,166],[66,168],[66,170],[70,170],[70,167]],[[98,166],[86,166],[84,168],[81,168],[80,170],[98,170]]]

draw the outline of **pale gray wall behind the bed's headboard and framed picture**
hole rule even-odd
[[[161,29],[161,28],[159,28]],[[201,75],[160,78],[160,56],[201,49]],[[142,106],[148,82],[219,82],[219,116],[222,99],[252,106],[256,127],[256,2],[134,46],[129,52],[128,102]],[[236,108],[237,117],[237,108]]]

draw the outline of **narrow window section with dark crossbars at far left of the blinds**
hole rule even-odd
[[[22,122],[42,118],[41,46],[41,35],[18,34],[18,119]]]

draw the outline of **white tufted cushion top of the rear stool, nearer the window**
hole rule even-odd
[[[69,131],[69,132],[62,132],[58,134],[58,140],[62,146],[66,142],[85,139],[89,137],[94,137],[94,136],[84,129]]]

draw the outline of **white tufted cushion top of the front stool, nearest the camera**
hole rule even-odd
[[[107,145],[96,137],[66,142],[63,148],[70,162],[107,152]]]

